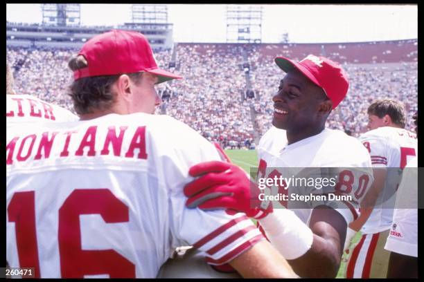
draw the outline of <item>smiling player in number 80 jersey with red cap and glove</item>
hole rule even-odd
[[[299,63],[285,57],[277,57],[275,62],[287,75],[272,98],[273,127],[258,144],[260,177],[281,175],[278,170],[267,173],[270,167],[287,171],[296,167],[342,168],[335,190],[325,192],[351,194],[354,200],[302,209],[283,203],[288,209],[269,205],[256,212],[250,202],[256,195],[251,194],[246,174],[233,164],[208,162],[191,167],[191,176],[207,174],[186,185],[186,205],[235,209],[258,218],[267,238],[299,276],[335,277],[346,227],[357,217],[357,201],[373,181],[371,160],[358,140],[325,126],[328,115],[348,91],[342,67],[314,55]]]

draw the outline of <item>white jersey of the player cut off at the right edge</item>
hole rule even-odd
[[[418,158],[407,163],[400,182],[393,223],[385,249],[406,256],[418,256]],[[402,196],[403,195],[403,196]]]

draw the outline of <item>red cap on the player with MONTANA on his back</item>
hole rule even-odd
[[[158,68],[149,41],[140,32],[111,30],[96,35],[82,46],[78,55],[87,59],[88,66],[74,71],[74,80],[141,71],[157,75],[157,84],[182,78]]]

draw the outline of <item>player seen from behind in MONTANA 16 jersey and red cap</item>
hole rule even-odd
[[[148,39],[112,30],[69,62],[78,122],[13,128],[6,146],[6,259],[39,278],[154,278],[176,247],[245,277],[295,277],[244,214],[187,209],[197,162],[220,160],[200,134],[166,115]]]

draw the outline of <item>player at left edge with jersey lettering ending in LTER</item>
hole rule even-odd
[[[16,94],[12,69],[6,62],[6,124],[19,126],[23,122],[71,122],[78,116],[55,104],[32,95]],[[23,130],[26,130],[25,128]]]

